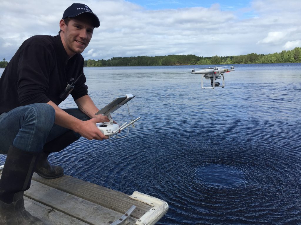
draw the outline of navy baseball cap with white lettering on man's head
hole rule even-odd
[[[87,5],[81,3],[73,3],[72,5],[70,5],[65,10],[62,19],[66,19],[67,17],[73,18],[82,13],[88,13],[91,16],[94,27],[100,26],[98,17],[92,12],[92,10]]]

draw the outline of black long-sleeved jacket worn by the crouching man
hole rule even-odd
[[[79,76],[71,95],[74,100],[87,95],[83,65],[81,54],[69,59],[60,35],[36,35],[27,39],[0,78],[0,114],[50,100],[59,105],[62,102],[59,96],[67,82]]]

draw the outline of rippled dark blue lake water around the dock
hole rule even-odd
[[[51,163],[165,200],[158,224],[301,224],[301,64],[236,66],[215,89],[201,89],[192,66],[85,68],[99,108],[132,93],[141,119],[123,139],[80,138]],[[126,106],[112,116],[132,119]]]

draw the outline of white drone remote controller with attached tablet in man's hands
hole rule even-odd
[[[113,119],[111,117],[111,114],[113,112],[115,112],[117,109],[122,107],[124,104],[127,104],[127,102],[130,101],[134,97],[135,97],[135,95],[132,95],[132,94],[126,94],[125,97],[118,97],[115,100],[113,100],[112,102],[110,102],[109,104],[107,104],[104,108],[99,110],[97,113],[95,113],[95,115],[102,114],[103,116],[107,116],[109,118],[109,120],[110,120],[109,122],[96,123],[96,126],[104,135],[109,136],[110,140],[111,140],[110,137],[113,135],[115,135],[114,136],[115,138],[121,138],[121,137],[118,137],[119,131],[122,131],[124,128],[129,127],[129,125],[132,125],[132,127],[135,127],[134,123],[138,119],[140,119],[140,117],[138,117],[137,119],[135,119],[135,120],[133,119],[129,123],[125,122],[123,125],[121,125],[119,127],[118,124],[113,123]],[[123,137],[125,137],[125,136],[123,136]]]

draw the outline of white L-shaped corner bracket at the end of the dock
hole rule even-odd
[[[153,196],[134,191],[134,193],[130,195],[130,198],[153,206],[136,221],[136,225],[154,225],[168,211],[167,202]]]

